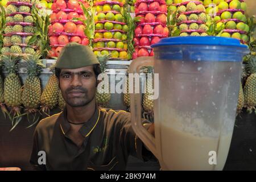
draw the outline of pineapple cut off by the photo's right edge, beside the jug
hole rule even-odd
[[[248,73],[251,75],[245,82],[245,106],[251,113],[256,106],[256,59],[251,59],[247,64]],[[256,112],[256,111],[255,111]]]

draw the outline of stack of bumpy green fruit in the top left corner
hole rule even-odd
[[[32,4],[26,2],[8,2],[6,7],[6,28],[3,34],[2,54],[16,56],[33,54],[37,47],[28,46],[28,41],[34,35],[34,18],[31,15]]]

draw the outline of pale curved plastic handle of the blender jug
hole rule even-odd
[[[130,64],[129,73],[138,73],[142,66],[154,66],[154,57],[138,57]],[[155,138],[142,126],[141,123],[141,93],[130,93],[131,98],[131,126],[133,130],[147,146],[147,148],[158,158]],[[158,158],[159,159],[159,158]]]

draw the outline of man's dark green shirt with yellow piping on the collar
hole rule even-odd
[[[149,127],[143,120],[143,126]],[[123,110],[97,107],[79,130],[85,137],[81,147],[69,139],[67,110],[42,119],[36,126],[31,164],[46,170],[125,170],[129,155],[151,158],[131,127],[131,115]],[[46,152],[46,165],[38,165],[39,151]],[[142,156],[143,152],[143,156]]]

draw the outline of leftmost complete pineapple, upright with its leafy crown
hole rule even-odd
[[[13,130],[22,119],[22,115],[20,114],[20,108],[22,105],[22,85],[20,83],[19,76],[16,74],[18,69],[17,61],[19,57],[2,55],[1,59],[3,60],[6,71],[8,72],[8,75],[5,78],[3,97],[5,99],[6,106],[11,107],[10,113],[13,113],[12,117],[8,114],[13,125],[11,130]]]

